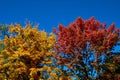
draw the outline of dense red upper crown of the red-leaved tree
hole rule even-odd
[[[115,30],[114,24],[106,30],[106,24],[101,24],[94,17],[88,20],[79,17],[68,27],[59,25],[58,31],[56,29],[53,31],[58,37],[56,52],[70,55],[75,55],[75,51],[84,50],[88,43],[90,43],[89,49],[105,53],[119,40],[118,30]]]

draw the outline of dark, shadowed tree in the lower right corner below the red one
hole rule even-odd
[[[103,73],[98,77],[99,79],[120,79],[120,52],[110,52],[106,55],[103,65],[101,65]],[[119,78],[119,79],[118,79]]]

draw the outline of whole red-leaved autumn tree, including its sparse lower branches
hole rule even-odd
[[[106,29],[106,24],[91,17],[88,20],[77,18],[69,26],[53,29],[57,35],[55,45],[57,65],[66,66],[64,75],[72,74],[80,79],[97,79],[103,73],[107,53],[120,41],[119,30],[114,23]],[[70,72],[67,72],[67,71]]]

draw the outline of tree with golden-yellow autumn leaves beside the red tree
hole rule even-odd
[[[0,53],[0,79],[42,80],[46,76],[49,80],[58,79],[55,71],[59,70],[50,67],[54,34],[48,35],[30,24],[24,28],[20,24],[10,25],[9,33],[10,37],[1,41],[5,48]]]

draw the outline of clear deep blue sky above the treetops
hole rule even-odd
[[[120,27],[120,0],[0,0],[0,24],[29,20],[47,32],[58,24],[67,26],[77,17],[95,16]]]

